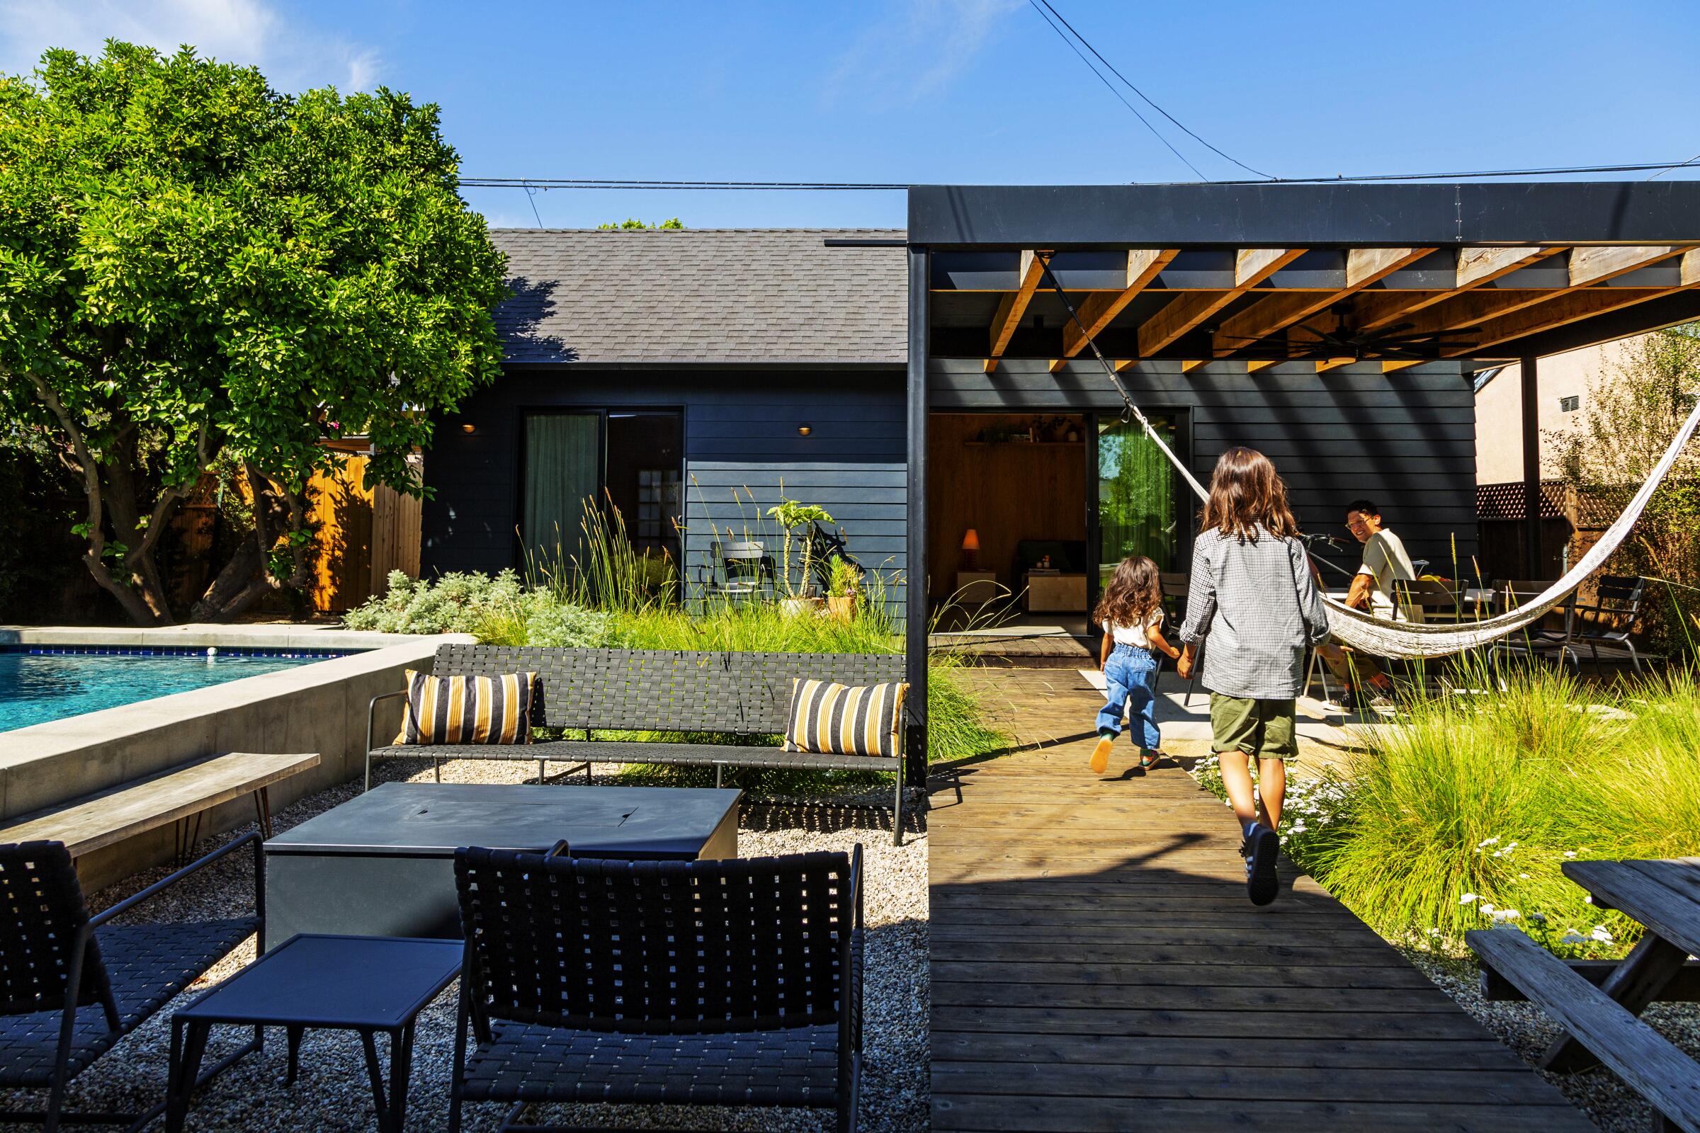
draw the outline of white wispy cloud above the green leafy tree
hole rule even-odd
[[[369,90],[377,51],[292,24],[260,0],[0,0],[0,71],[34,70],[48,48],[99,54],[107,39],[255,65],[279,90]]]

